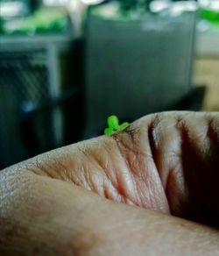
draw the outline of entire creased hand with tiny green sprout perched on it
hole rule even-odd
[[[219,255],[219,113],[164,112],[0,172],[0,255]]]

